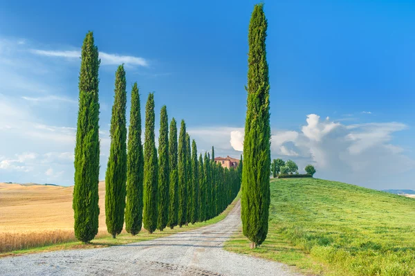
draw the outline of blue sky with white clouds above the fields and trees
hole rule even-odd
[[[77,53],[88,30],[102,59],[100,178],[122,62],[142,106],[155,91],[156,113],[166,104],[169,118],[184,118],[199,149],[241,154],[256,1],[8,2],[0,181],[73,184]],[[320,178],[415,189],[415,3],[265,1],[265,12],[273,158],[312,163]]]

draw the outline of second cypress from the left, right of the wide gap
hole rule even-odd
[[[115,239],[124,226],[125,194],[127,181],[127,86],[124,66],[116,72],[116,95],[111,116],[111,147],[105,174],[105,223]]]

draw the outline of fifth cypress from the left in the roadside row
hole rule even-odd
[[[160,112],[160,136],[158,136],[158,219],[157,229],[163,231],[169,216],[169,120],[167,107]]]

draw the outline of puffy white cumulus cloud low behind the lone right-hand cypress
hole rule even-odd
[[[390,172],[415,169],[415,161],[393,142],[394,134],[405,129],[407,125],[400,122],[344,125],[309,114],[301,131],[272,131],[271,154],[293,158],[300,170],[311,163],[317,177],[378,188],[387,185]],[[243,132],[232,131],[230,136],[232,147],[242,150],[241,142],[235,141],[243,141]]]

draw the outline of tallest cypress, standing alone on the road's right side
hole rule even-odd
[[[266,62],[264,5],[252,12],[248,32],[248,104],[243,141],[241,218],[243,234],[260,245],[268,232],[270,206],[270,84]]]

